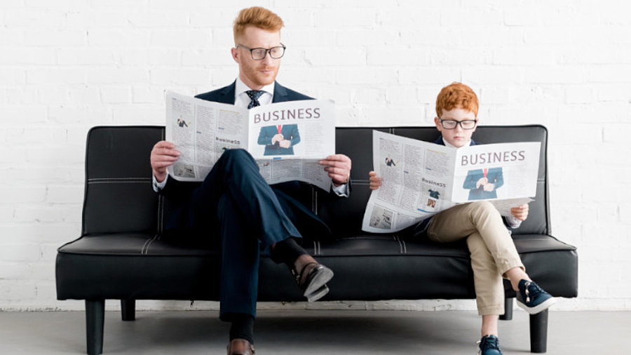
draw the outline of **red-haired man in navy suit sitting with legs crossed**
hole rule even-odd
[[[272,102],[311,99],[276,83],[283,20],[265,8],[240,11],[234,22],[232,58],[239,66],[235,82],[197,95],[203,100],[252,108]],[[299,246],[301,233],[325,232],[328,227],[292,193],[297,181],[267,185],[257,163],[243,149],[229,149],[199,184],[169,178],[167,167],[180,153],[171,142],[156,143],[151,151],[154,189],[177,209],[167,228],[188,228],[205,237],[221,239],[222,279],[220,318],[231,321],[228,354],[254,354],[252,344],[256,313],[259,243],[272,260],[285,262],[309,301],[328,292],[333,272],[316,262]],[[333,192],[348,196],[351,159],[334,154],[320,161],[333,182]]]

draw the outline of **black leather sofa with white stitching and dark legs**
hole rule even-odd
[[[436,245],[398,234],[360,230],[369,196],[372,130],[433,141],[433,127],[337,128],[337,152],[353,160],[353,189],[334,199],[309,187],[300,196],[334,232],[334,240],[305,241],[306,249],[335,272],[324,300],[471,299],[473,272],[465,243]],[[57,298],[86,300],[88,354],[100,354],[105,300],[121,300],[122,318],[134,319],[135,300],[218,300],[219,255],[212,243],[165,233],[168,201],[151,189],[151,147],[164,138],[161,126],[95,127],[86,148],[86,190],[79,239],[58,249]],[[543,126],[481,126],[483,142],[542,143],[536,201],[513,232],[522,260],[545,290],[576,297],[576,248],[551,235]],[[260,301],[302,301],[287,267],[262,257]],[[515,293],[506,286],[510,319]],[[548,311],[530,316],[531,351],[545,352]]]

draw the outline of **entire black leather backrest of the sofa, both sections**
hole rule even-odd
[[[434,127],[337,128],[337,152],[353,161],[352,193],[348,199],[332,198],[314,189],[311,203],[336,234],[360,232],[370,194],[368,172],[372,170],[372,131],[433,142]],[[530,203],[529,217],[520,234],[550,234],[548,216],[548,133],[543,126],[480,126],[473,139],[480,143],[541,142],[537,195]],[[82,234],[149,232],[161,233],[165,203],[151,188],[149,156],[154,144],[164,139],[163,126],[101,126],[88,133],[86,189]]]

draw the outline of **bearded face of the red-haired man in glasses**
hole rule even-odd
[[[236,44],[248,48],[272,48],[280,46],[280,31],[269,32],[254,26],[245,27],[245,32],[236,39]],[[232,58],[239,63],[239,78],[253,90],[259,90],[276,80],[280,58],[273,59],[266,53],[262,60],[253,60],[247,48],[232,48]]]

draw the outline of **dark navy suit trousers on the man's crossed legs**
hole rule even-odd
[[[194,189],[191,205],[192,227],[221,239],[221,319],[255,316],[261,250],[301,237],[291,204],[276,196],[249,153],[230,149]]]

